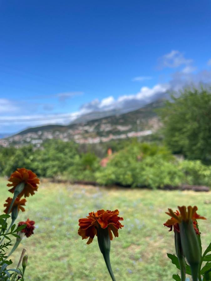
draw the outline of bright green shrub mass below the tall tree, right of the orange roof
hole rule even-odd
[[[162,146],[139,144],[119,151],[96,172],[102,185],[163,188],[182,184],[210,185],[211,166],[178,160]]]

